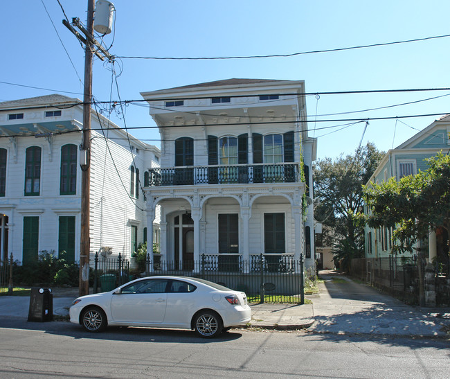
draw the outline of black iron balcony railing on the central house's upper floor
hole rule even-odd
[[[152,168],[145,186],[186,186],[192,184],[245,184],[298,182],[298,164],[254,164]]]

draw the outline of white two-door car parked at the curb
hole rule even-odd
[[[89,332],[110,326],[194,329],[200,337],[247,324],[251,309],[246,294],[203,279],[150,276],[110,292],[78,297],[71,322]]]

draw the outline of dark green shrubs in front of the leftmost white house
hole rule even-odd
[[[51,250],[39,252],[37,261],[27,265],[19,265],[16,261],[12,267],[12,278],[15,284],[35,285],[69,285],[78,287],[78,276],[80,266],[78,263],[66,261],[66,252],[61,252],[60,256],[55,256]]]

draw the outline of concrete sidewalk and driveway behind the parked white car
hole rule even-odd
[[[450,308],[407,306],[336,272],[321,274],[312,304],[251,304],[253,328],[303,329],[316,333],[450,337]],[[69,315],[78,288],[53,289],[53,314]],[[0,317],[28,317],[29,297],[0,297]]]

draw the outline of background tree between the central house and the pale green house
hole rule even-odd
[[[318,160],[314,176],[314,197],[319,203],[315,218],[325,225],[324,245],[334,245],[334,256],[348,268],[351,258],[364,255],[364,229],[359,222],[363,206],[363,185],[375,172],[384,152],[367,143],[354,155]]]

